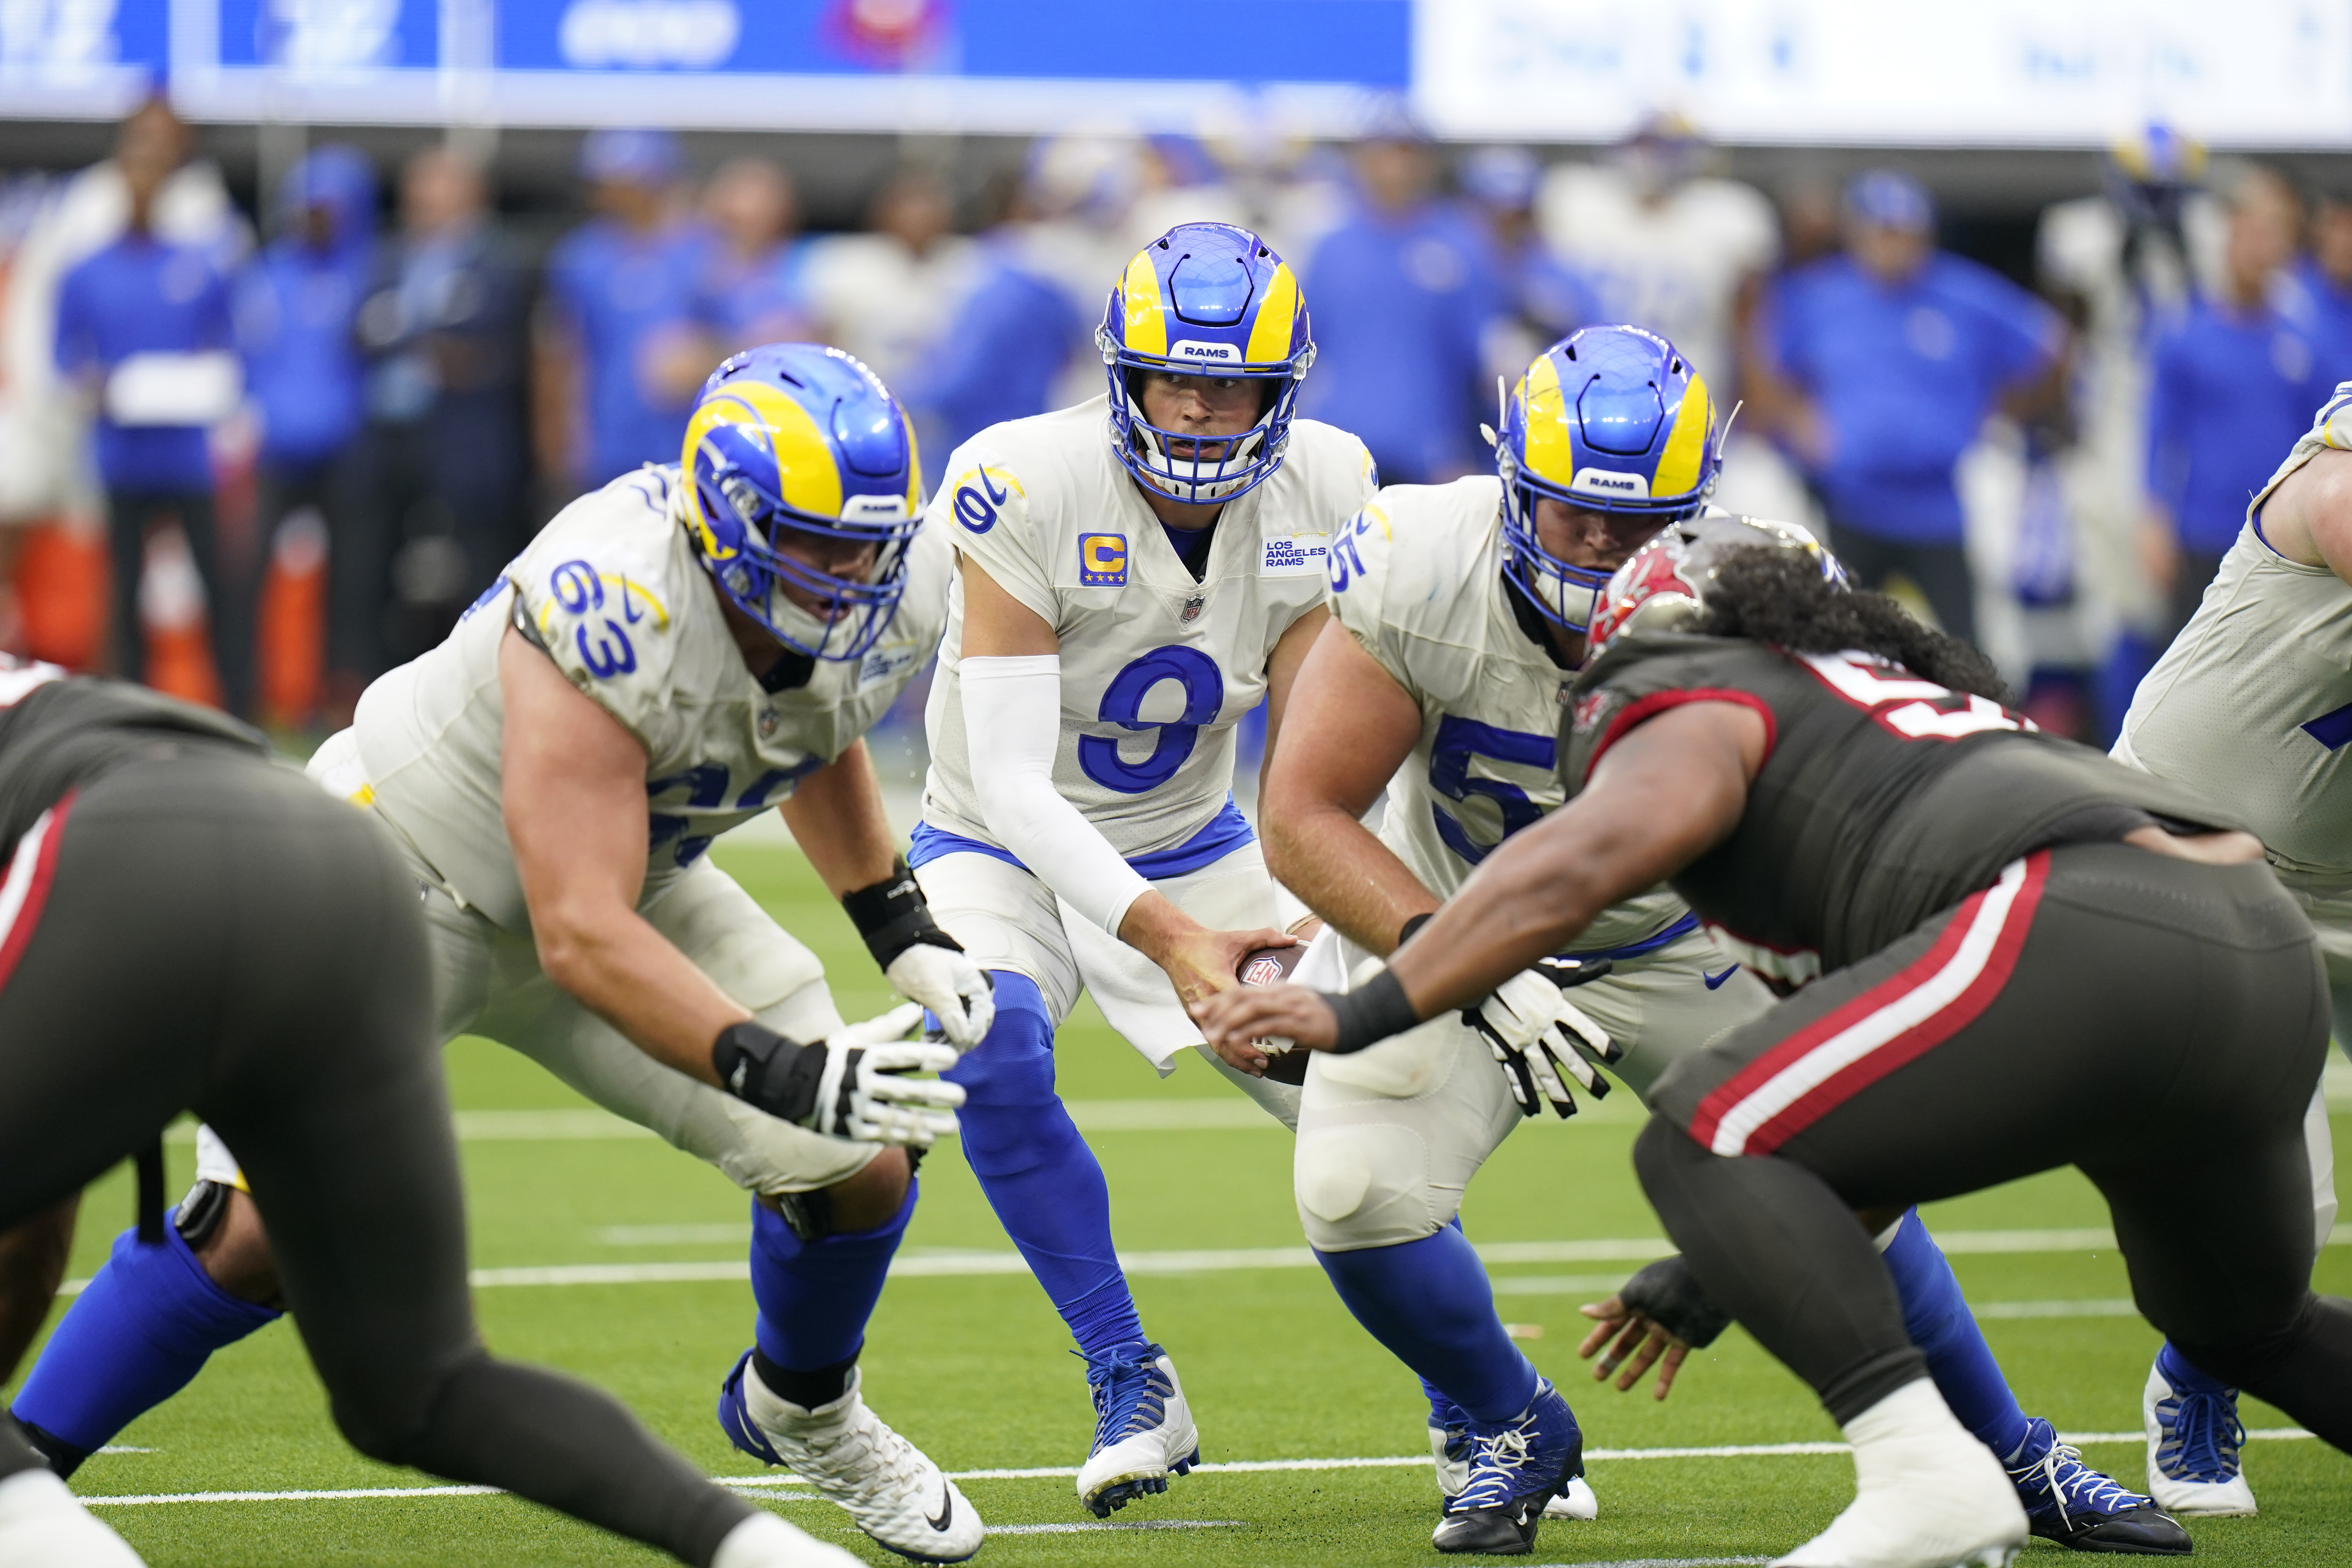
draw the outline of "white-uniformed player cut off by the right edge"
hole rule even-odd
[[[2336,1039],[2352,1041],[2352,383],[2338,386],[2190,623],[2147,672],[2114,757],[2227,799],[2319,931]],[[2305,1117],[2317,1241],[2336,1227],[2328,1107]],[[2237,1389],[2173,1345],[2140,1403],[2147,1488],[2183,1514],[2251,1514]]]

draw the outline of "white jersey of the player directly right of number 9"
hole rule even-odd
[[[1421,741],[1388,780],[1381,842],[1451,898],[1505,835],[1564,799],[1562,670],[1503,588],[1503,482],[1390,484],[1331,541],[1331,614],[1421,703]],[[1529,609],[1534,621],[1534,611]],[[1613,905],[1578,952],[1628,947],[1689,917],[1658,889]]]

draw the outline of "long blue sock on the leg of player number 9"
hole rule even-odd
[[[1110,1187],[1054,1093],[1054,1018],[1037,983],[990,971],[997,1023],[943,1077],[964,1086],[964,1159],[1089,1356],[1143,1340],[1120,1255]]]

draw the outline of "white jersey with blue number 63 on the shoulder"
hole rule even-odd
[[[499,642],[527,625],[644,745],[649,903],[710,839],[840,757],[938,644],[953,552],[927,527],[906,599],[854,663],[764,691],[680,522],[677,468],[640,468],[567,505],[430,654],[376,679],[353,731],[376,811],[449,891],[508,931],[529,912],[499,802]]]

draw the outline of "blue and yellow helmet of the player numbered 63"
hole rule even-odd
[[[818,343],[739,353],[703,381],[680,465],[687,529],[736,609],[811,658],[875,644],[906,595],[922,465],[915,425],[870,369]],[[818,559],[875,555],[861,574],[828,571],[795,538]]]

